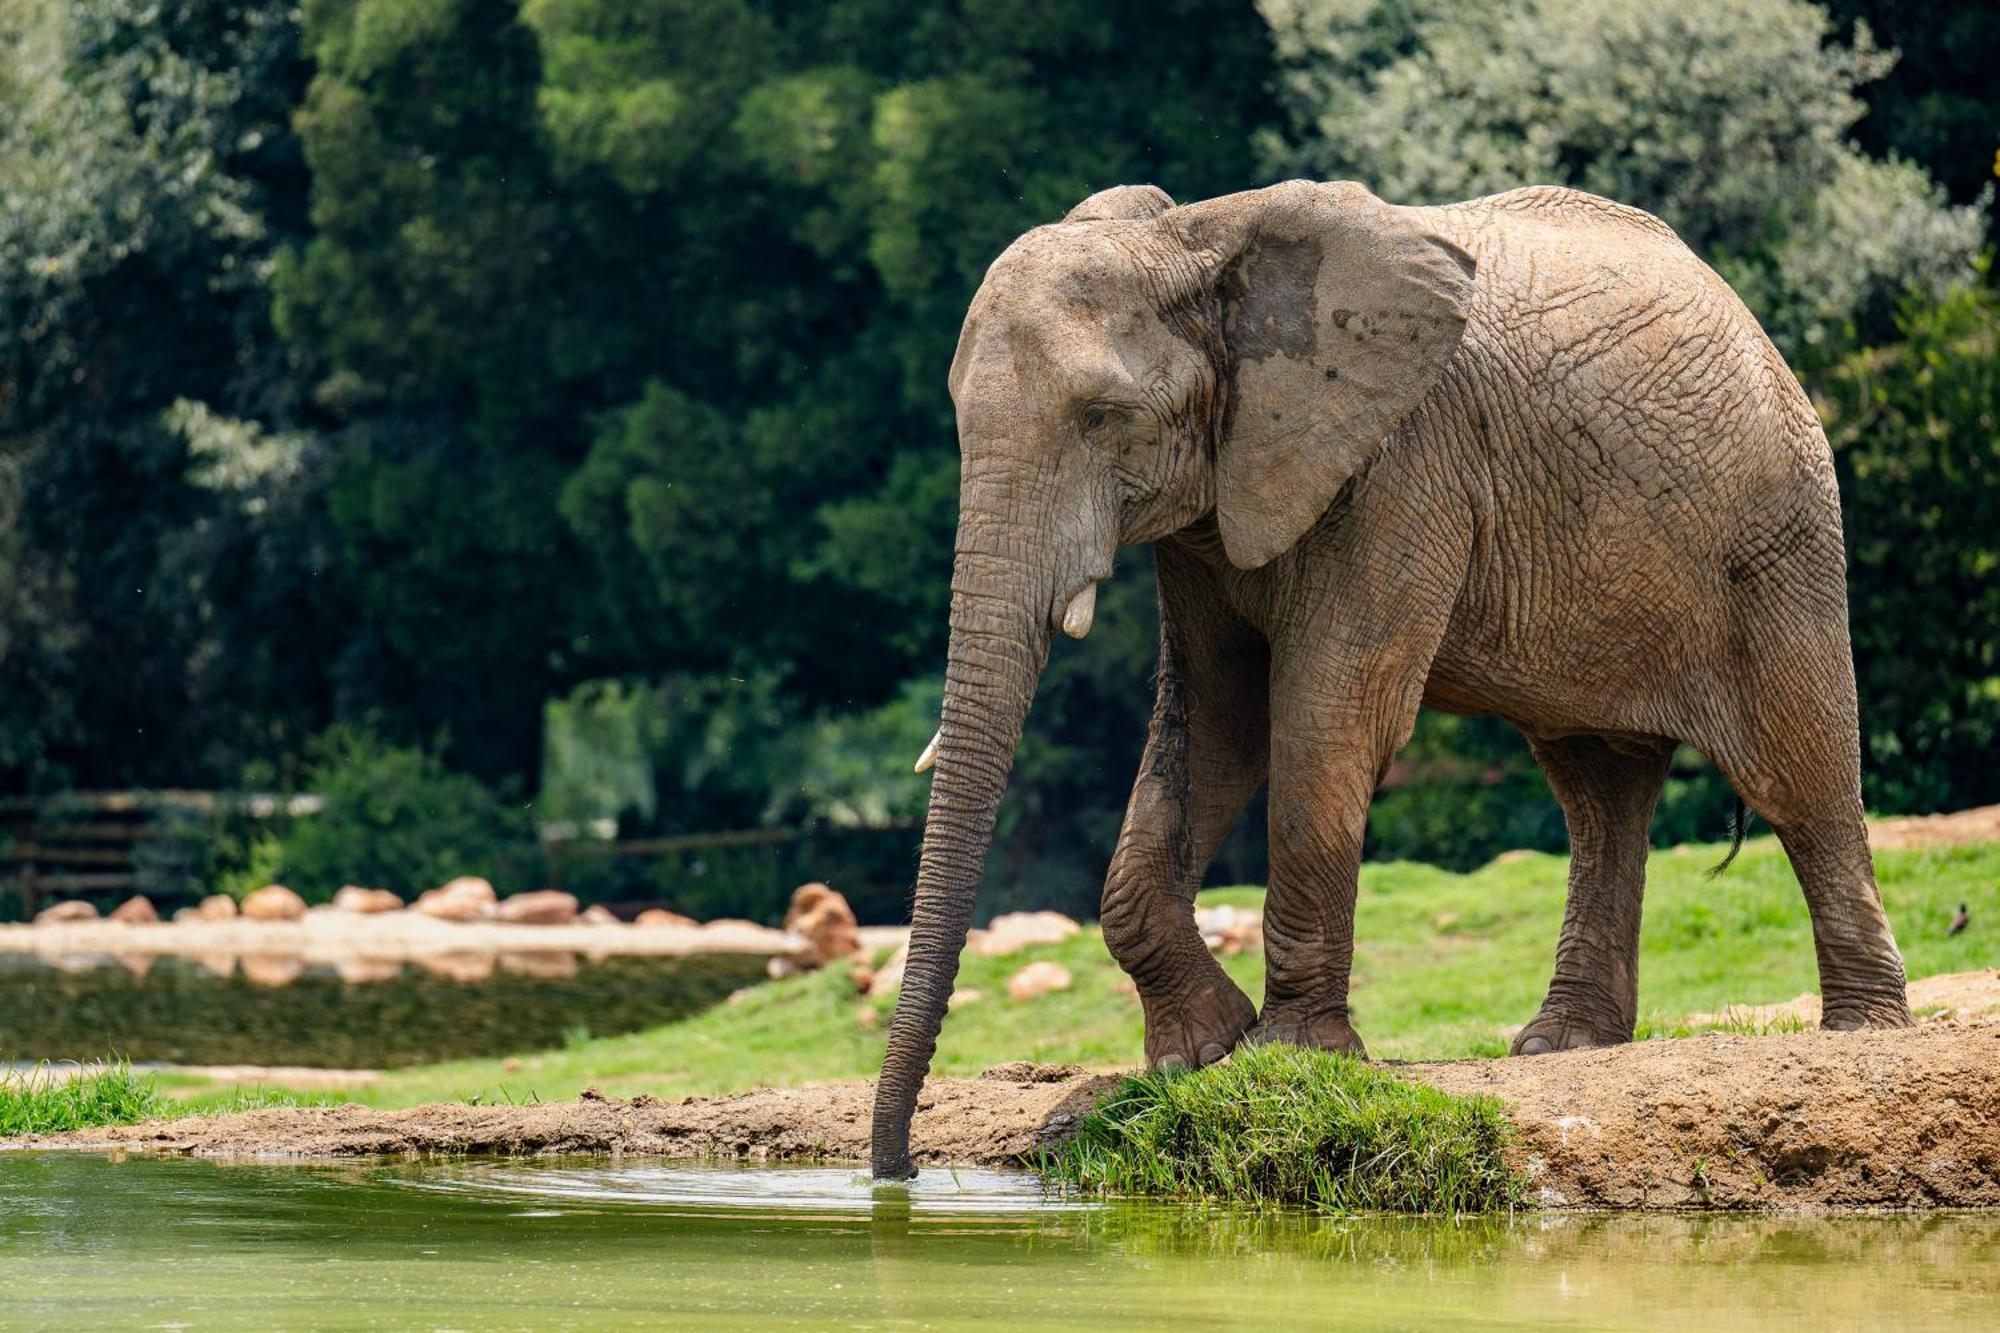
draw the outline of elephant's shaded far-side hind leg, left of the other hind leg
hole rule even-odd
[[[1666,783],[1668,741],[1530,741],[1570,827],[1570,897],[1556,975],[1514,1055],[1632,1041],[1638,1023],[1638,923],[1646,835]]]

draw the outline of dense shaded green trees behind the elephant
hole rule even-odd
[[[1672,222],[1842,472],[1868,801],[2000,801],[2000,10],[1906,0],[0,0],[0,795],[318,793],[216,885],[894,917],[1018,232],[1150,180],[1568,182]],[[1150,566],[1064,642],[988,907],[1090,913]],[[1662,841],[1720,837],[1686,755]],[[1216,877],[1262,873],[1252,819]],[[1370,853],[1562,847],[1426,715]]]

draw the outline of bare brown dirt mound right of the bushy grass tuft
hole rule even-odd
[[[2000,1205],[2000,1025],[1410,1065],[1498,1097],[1546,1207]]]

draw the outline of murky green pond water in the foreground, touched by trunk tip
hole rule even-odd
[[[994,1171],[16,1153],[0,1327],[1994,1329],[2000,1217],[1326,1219]]]

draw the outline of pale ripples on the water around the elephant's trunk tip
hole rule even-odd
[[[912,1217],[1018,1217],[1098,1207],[1056,1193],[1028,1171],[926,1167],[914,1181],[876,1183],[858,1167],[782,1165],[516,1165],[428,1167],[400,1185],[516,1203],[548,1217],[568,1209],[856,1217],[884,1207]]]

